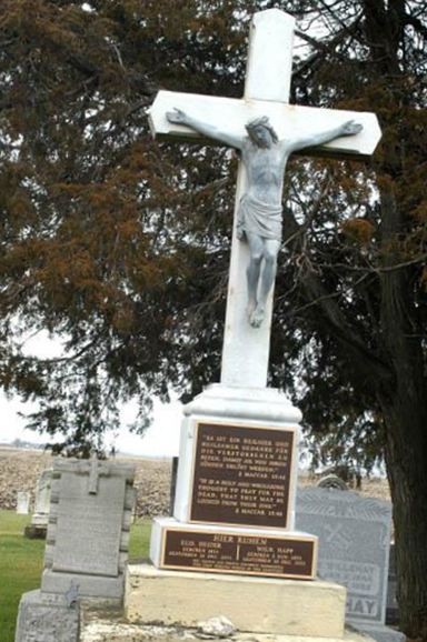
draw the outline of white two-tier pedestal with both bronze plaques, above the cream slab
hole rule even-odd
[[[210,385],[185,409],[159,569],[310,580],[317,538],[294,530],[300,412],[274,389]]]

